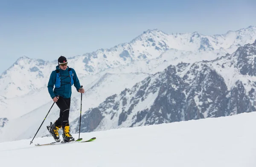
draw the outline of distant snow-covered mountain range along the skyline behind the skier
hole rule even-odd
[[[68,61],[70,67],[75,68],[78,74],[97,74],[138,60],[156,59],[169,49],[210,53],[218,50],[223,52],[224,49],[223,54],[232,54],[239,46],[253,43],[254,40],[256,40],[256,27],[253,26],[214,36],[206,36],[198,32],[170,35],[155,29],[145,31],[129,43],[119,44],[110,49],[99,49],[93,53],[69,58]],[[218,55],[214,59],[216,57]],[[179,56],[176,59],[179,59]],[[20,57],[0,76],[2,88],[0,95],[13,98],[45,87],[49,74],[56,65],[57,61],[47,62]]]

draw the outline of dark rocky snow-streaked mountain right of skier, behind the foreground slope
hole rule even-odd
[[[256,111],[255,65],[256,41],[213,61],[170,65],[88,110],[81,132]]]

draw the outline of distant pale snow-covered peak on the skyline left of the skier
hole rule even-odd
[[[22,96],[38,90],[47,83],[46,74],[55,68],[53,63],[42,59],[20,57],[0,76],[0,95],[6,98]]]

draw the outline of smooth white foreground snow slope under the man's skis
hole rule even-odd
[[[52,142],[52,137],[35,138],[31,145],[32,139],[3,142],[0,166],[256,167],[255,127],[253,112],[81,133],[84,139],[96,136],[87,143],[34,145]]]

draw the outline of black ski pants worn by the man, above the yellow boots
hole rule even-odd
[[[65,126],[69,126],[70,98],[64,99],[63,97],[59,97],[56,105],[60,108],[60,117],[56,120],[55,125],[62,126],[62,129],[64,129]]]

